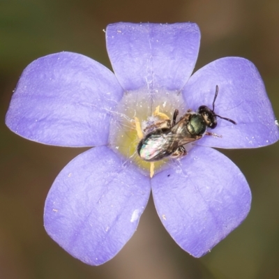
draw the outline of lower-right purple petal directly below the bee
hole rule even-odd
[[[204,146],[195,146],[154,176],[151,186],[163,225],[194,257],[209,252],[250,209],[250,189],[241,171],[222,153]]]

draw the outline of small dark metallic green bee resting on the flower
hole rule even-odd
[[[166,157],[180,158],[185,156],[187,151],[183,146],[184,144],[195,142],[203,135],[215,135],[206,132],[206,128],[216,128],[217,117],[236,125],[232,119],[214,112],[217,96],[218,85],[216,85],[212,110],[206,105],[201,105],[197,112],[188,110],[177,123],[176,118],[179,115],[179,110],[174,110],[172,121],[167,119],[153,124],[152,127],[147,127],[147,130],[149,128],[153,128],[153,130],[147,133],[137,145],[137,153],[140,158],[148,162],[155,162]]]

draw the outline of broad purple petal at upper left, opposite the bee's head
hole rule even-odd
[[[100,63],[71,52],[51,54],[22,73],[6,124],[44,144],[106,144],[110,110],[122,95],[114,74]]]

